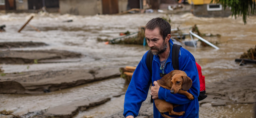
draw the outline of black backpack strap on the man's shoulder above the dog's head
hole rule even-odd
[[[179,70],[179,52],[181,45],[173,44],[172,46],[172,67],[174,70]]]

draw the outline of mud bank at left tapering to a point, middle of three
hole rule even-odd
[[[0,51],[0,64],[33,64],[62,62],[63,59],[79,58],[83,55],[65,50],[6,50]]]

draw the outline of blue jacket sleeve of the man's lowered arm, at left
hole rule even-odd
[[[136,67],[124,98],[124,117],[138,116],[141,103],[146,100],[151,84],[150,72],[146,66],[145,53]]]

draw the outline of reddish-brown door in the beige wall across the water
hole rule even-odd
[[[102,13],[103,14],[118,13],[118,0],[102,0]]]

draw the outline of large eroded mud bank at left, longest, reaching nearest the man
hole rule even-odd
[[[30,71],[1,76],[0,93],[35,94],[120,76],[118,68]]]

